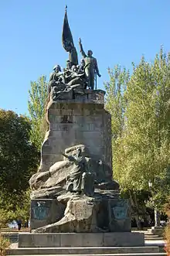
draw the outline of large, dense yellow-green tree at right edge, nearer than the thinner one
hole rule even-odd
[[[169,56],[162,50],[154,63],[143,57],[134,67],[125,93],[124,134],[117,140],[122,155],[114,154],[115,175],[123,187],[148,189],[148,181],[168,168],[169,72]]]

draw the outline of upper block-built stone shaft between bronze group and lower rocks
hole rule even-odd
[[[46,172],[55,162],[63,160],[60,152],[73,145],[86,145],[90,157],[107,166],[112,177],[110,114],[104,109],[104,90],[84,90],[71,100],[49,101],[49,131],[42,144],[39,172]]]

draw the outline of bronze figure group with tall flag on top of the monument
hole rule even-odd
[[[76,47],[73,44],[73,36],[70,32],[66,12],[63,22],[62,43],[66,52],[69,52],[69,60],[66,61],[66,68],[63,70],[59,65],[53,67],[53,73],[49,77],[50,97],[56,100],[66,97],[66,94],[75,89],[97,89],[97,76],[100,77],[97,60],[92,56],[92,50],[88,50],[87,54],[84,52],[80,39],[80,53],[83,59],[78,64]]]

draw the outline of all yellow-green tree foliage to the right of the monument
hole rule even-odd
[[[161,49],[153,63],[143,56],[133,63],[131,76],[120,67],[109,74],[106,108],[112,114],[114,178],[121,189],[134,192],[148,190],[151,180],[161,205],[170,181],[170,55]]]

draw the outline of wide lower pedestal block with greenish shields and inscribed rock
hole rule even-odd
[[[118,193],[66,193],[57,200],[32,200],[30,227],[37,233],[130,232],[131,213]]]

